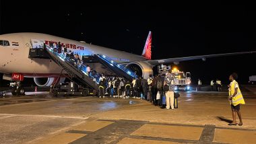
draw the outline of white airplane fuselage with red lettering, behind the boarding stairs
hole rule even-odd
[[[79,55],[106,55],[117,63],[129,63],[133,61],[145,61],[139,55],[129,52],[113,50],[102,46],[60,38],[48,34],[15,33],[0,35],[0,40],[7,40],[9,46],[0,46],[0,73],[22,73],[25,77],[54,77],[61,73],[61,67],[51,59],[30,59],[29,50],[32,48],[32,40],[42,42],[61,42]]]

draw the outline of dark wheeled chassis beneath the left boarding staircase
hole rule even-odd
[[[94,89],[79,86],[73,82],[61,83],[60,85],[55,85],[50,89],[51,96],[96,96],[96,91]]]

